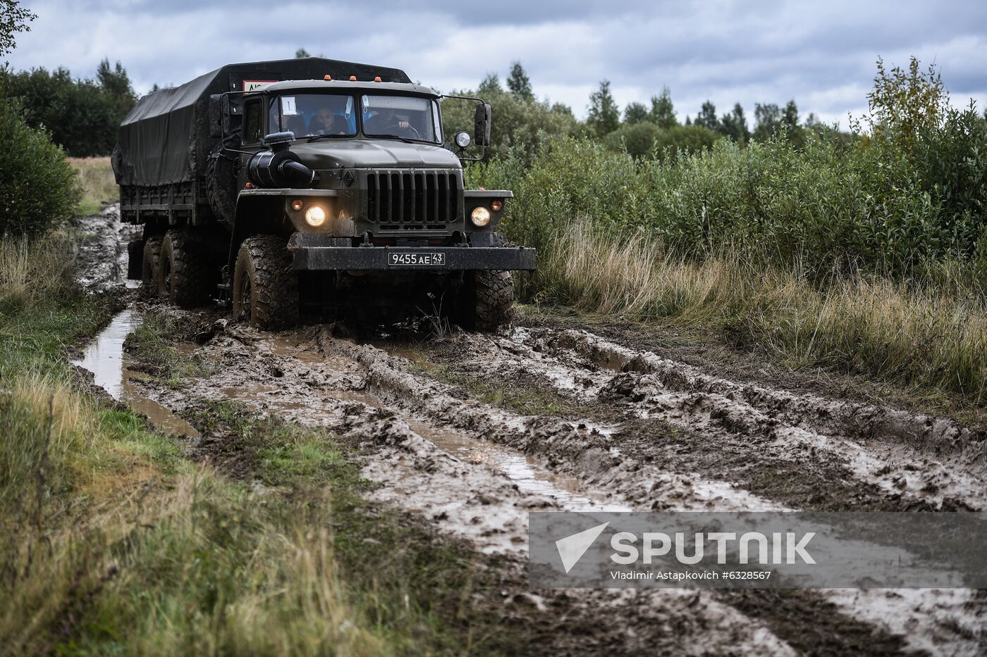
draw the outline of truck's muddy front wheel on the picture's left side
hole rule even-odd
[[[233,317],[264,329],[298,323],[298,275],[281,238],[259,235],[240,245],[233,271]]]

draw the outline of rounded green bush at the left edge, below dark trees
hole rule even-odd
[[[79,181],[48,133],[24,120],[20,103],[0,95],[0,235],[40,235],[72,216]]]

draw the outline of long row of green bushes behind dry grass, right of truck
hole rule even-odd
[[[646,234],[695,257],[729,245],[809,273],[865,267],[895,277],[930,260],[984,258],[987,127],[957,112],[920,135],[909,156],[876,139],[854,148],[784,137],[662,159],[588,140],[551,144],[527,170],[506,158],[468,181],[508,188],[501,224],[516,242],[548,248],[576,217]]]

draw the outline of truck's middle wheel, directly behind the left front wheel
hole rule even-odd
[[[210,257],[189,231],[165,233],[161,243],[158,290],[179,308],[195,308],[212,297]]]

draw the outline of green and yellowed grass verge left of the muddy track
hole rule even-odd
[[[107,322],[71,245],[0,244],[0,645],[11,654],[422,654],[524,645],[469,547],[367,503],[340,437],[203,401],[261,490],[89,393],[67,351]],[[158,321],[138,339],[178,362]]]

